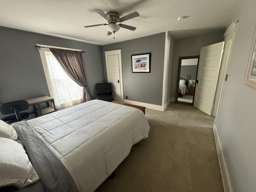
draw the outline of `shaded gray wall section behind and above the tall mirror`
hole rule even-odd
[[[180,57],[200,55],[201,47],[218,43],[224,40],[224,30],[212,34],[192,36],[188,38],[176,39],[174,50],[174,66],[172,79],[172,98],[176,96],[178,65]]]

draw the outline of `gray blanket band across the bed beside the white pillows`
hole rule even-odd
[[[26,121],[17,122],[12,126],[17,131],[18,138],[24,144],[40,180],[22,189],[14,189],[13,186],[10,186],[5,188],[4,191],[75,192],[72,180],[64,165],[40,135]]]

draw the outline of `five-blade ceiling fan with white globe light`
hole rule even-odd
[[[119,17],[119,14],[114,11],[109,11],[106,14],[100,9],[94,9],[94,11],[96,11],[103,18],[105,18],[108,21],[108,24],[96,24],[96,25],[89,25],[84,27],[88,28],[88,27],[106,25],[108,29],[108,35],[111,35],[112,33],[115,34],[115,32],[117,32],[120,29],[120,27],[134,31],[136,27],[121,24],[121,22],[140,16],[140,14],[136,11],[126,16],[123,16],[121,18]],[[116,23],[120,23],[120,24],[116,24]]]

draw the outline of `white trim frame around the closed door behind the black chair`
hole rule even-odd
[[[107,72],[107,80],[110,82],[110,74],[108,70],[108,58],[107,56],[109,55],[118,55],[118,60],[119,60],[119,81],[120,81],[120,93],[121,93],[121,102],[124,101],[124,92],[123,92],[123,76],[122,76],[122,60],[121,60],[121,50],[111,50],[111,51],[104,51],[105,53],[105,60],[106,60],[106,72]]]

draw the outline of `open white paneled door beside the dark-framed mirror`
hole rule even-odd
[[[212,115],[224,43],[205,46],[200,51],[194,107],[208,115]]]

